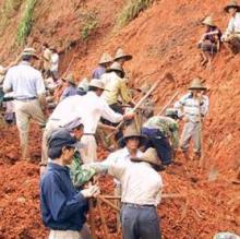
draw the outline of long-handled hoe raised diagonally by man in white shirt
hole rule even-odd
[[[172,80],[172,75],[171,73],[166,73],[164,75],[164,77],[159,79],[157,82],[155,82],[155,84],[152,85],[152,87],[149,88],[149,91],[143,96],[143,98],[140,99],[140,101],[134,106],[134,108],[132,109],[133,112],[135,112],[135,110],[143,104],[143,101],[155,91],[155,88],[158,86],[158,84],[164,80],[164,79],[169,79]],[[123,126],[124,121],[121,121],[117,127],[116,127],[116,131],[108,134],[107,139],[111,138],[113,134],[116,134],[120,128]]]

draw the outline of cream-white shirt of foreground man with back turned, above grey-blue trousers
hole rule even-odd
[[[149,164],[117,162],[110,164],[108,172],[120,180],[123,203],[155,206],[159,204],[163,180]]]

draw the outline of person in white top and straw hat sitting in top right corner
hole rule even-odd
[[[237,53],[240,50],[240,5],[231,0],[224,10],[230,15],[230,20],[221,40],[231,52]]]

